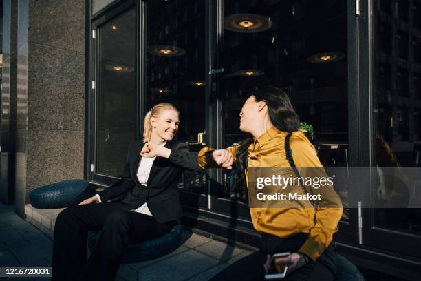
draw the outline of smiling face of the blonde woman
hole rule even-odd
[[[162,110],[158,117],[151,117],[152,137],[163,138],[171,141],[178,131],[178,112],[175,110]]]

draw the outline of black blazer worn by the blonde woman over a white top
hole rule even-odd
[[[99,194],[106,202],[118,196],[124,196],[122,207],[126,210],[137,209],[147,202],[149,211],[158,222],[178,220],[182,216],[177,185],[184,170],[203,171],[197,164],[197,157],[188,151],[188,145],[180,141],[168,141],[166,148],[171,149],[169,158],[157,157],[153,161],[147,187],[138,181],[139,152],[142,141],[133,141],[129,145],[124,175],[118,183],[104,189]]]

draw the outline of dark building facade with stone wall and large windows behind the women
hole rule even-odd
[[[156,103],[180,110],[178,137],[192,153],[235,145],[246,138],[241,105],[263,85],[285,90],[313,126],[323,165],[421,166],[420,0],[2,6],[0,195],[22,216],[28,192],[41,185],[116,182]],[[337,191],[345,211],[336,249],[367,275],[419,277],[419,209],[355,208],[347,204],[354,194]],[[180,192],[187,225],[257,243],[247,189],[232,172],[185,174]],[[376,176],[365,192],[380,192]]]

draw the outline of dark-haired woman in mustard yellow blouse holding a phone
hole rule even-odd
[[[246,180],[250,167],[289,167],[284,145],[285,137],[292,133],[289,143],[296,167],[322,167],[313,145],[297,132],[299,117],[282,90],[268,87],[253,92],[239,115],[241,131],[252,138],[230,149],[204,147],[198,155],[199,165],[227,169],[236,165]],[[323,168],[318,170],[319,176],[326,177]],[[318,175],[314,171],[305,174],[304,169],[299,176]],[[284,280],[334,280],[336,259],[331,242],[343,208],[332,186],[318,192],[321,200],[317,202],[290,200],[292,207],[250,207],[253,226],[261,232],[259,251],[231,264],[213,280],[263,280],[270,256],[283,252],[290,255],[275,259],[275,264],[288,264]],[[250,202],[252,192],[248,194]]]

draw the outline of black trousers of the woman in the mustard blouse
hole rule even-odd
[[[261,246],[259,251],[250,253],[250,255],[237,260],[223,271],[213,276],[210,280],[264,280],[265,270],[263,264],[266,263],[266,255],[269,253],[296,252],[301,245],[307,240],[304,233],[297,234],[290,238],[281,239],[277,236],[264,234],[261,237]],[[298,281],[298,280],[334,280],[336,273],[336,257],[332,244],[323,251],[316,262],[297,269],[288,274],[282,280]]]

